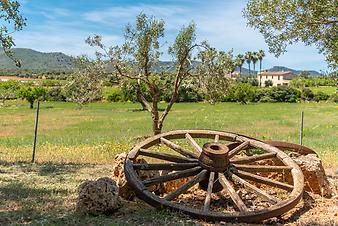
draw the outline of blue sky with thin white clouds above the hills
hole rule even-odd
[[[101,34],[107,45],[123,42],[123,28],[141,12],[166,22],[170,44],[184,24],[194,21],[197,38],[219,50],[233,49],[235,54],[265,50],[263,68],[283,65],[294,69],[327,70],[324,56],[314,46],[298,43],[275,58],[268,53],[262,35],[246,26],[242,0],[18,0],[27,18],[27,27],[14,34],[16,47],[69,55],[92,55],[95,51],[84,40]],[[163,60],[168,60],[163,55]]]

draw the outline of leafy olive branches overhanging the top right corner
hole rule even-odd
[[[338,67],[337,0],[250,0],[243,14],[277,57],[302,41],[316,45],[329,65]]]

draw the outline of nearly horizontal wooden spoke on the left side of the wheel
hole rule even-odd
[[[192,163],[137,163],[133,164],[135,170],[185,170],[199,166],[198,162]]]

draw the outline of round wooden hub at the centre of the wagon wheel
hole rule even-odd
[[[229,165],[229,148],[221,143],[205,143],[198,159],[201,166],[213,172],[224,172]]]

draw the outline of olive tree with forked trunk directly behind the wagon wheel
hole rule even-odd
[[[174,43],[168,48],[173,58],[171,67],[161,67],[160,39],[164,37],[164,21],[157,20],[141,13],[136,18],[134,26],[127,25],[124,32],[125,42],[120,46],[106,47],[99,35],[91,36],[87,43],[98,47],[99,59],[109,60],[121,80],[137,81],[138,100],[150,112],[154,134],[161,133],[163,123],[179,96],[182,81],[191,75],[194,49],[199,46],[195,42],[195,24],[183,26]],[[169,73],[171,72],[171,73]],[[173,73],[172,73],[173,72]],[[167,76],[172,76],[167,79]],[[171,81],[163,83],[164,80]],[[171,89],[171,97],[163,112],[159,111],[159,102],[163,84]],[[145,98],[141,86],[147,87],[150,98]]]

